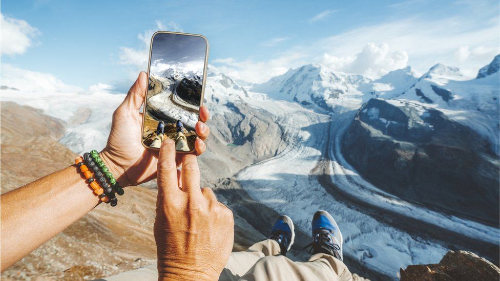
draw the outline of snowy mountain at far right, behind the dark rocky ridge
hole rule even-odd
[[[496,56],[480,70],[478,76],[482,77],[475,79],[463,75],[457,68],[436,64],[395,98],[435,107],[451,119],[473,128],[489,140],[491,149],[498,155],[498,60]]]

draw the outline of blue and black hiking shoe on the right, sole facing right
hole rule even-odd
[[[324,253],[343,261],[342,233],[334,218],[327,211],[317,211],[313,216],[313,242],[305,246],[312,254]]]

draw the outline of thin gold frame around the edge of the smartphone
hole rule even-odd
[[[202,79],[202,83],[201,83],[201,100],[200,100],[200,107],[203,106],[203,99],[204,99],[204,96],[205,96],[206,67],[207,67],[207,64],[209,62],[209,49],[210,49],[209,40],[207,40],[205,36],[200,35],[200,34],[182,33],[182,32],[174,32],[174,31],[157,31],[157,32],[155,32],[153,34],[153,36],[151,36],[151,42],[150,42],[150,47],[149,47],[148,81],[149,81],[149,74],[150,74],[150,68],[151,68],[151,55],[152,55],[152,52],[153,52],[153,39],[155,38],[155,36],[157,34],[160,34],[160,33],[195,36],[195,37],[200,37],[200,38],[202,38],[205,41],[205,44],[206,44],[205,62],[203,64],[203,79]],[[146,118],[145,111],[146,111],[146,103],[147,102],[148,102],[148,87],[146,87],[146,93],[144,95],[144,104],[143,104],[143,107],[142,107],[142,109],[143,109],[142,110],[142,128],[141,128],[141,136],[140,136],[141,143],[142,143],[142,146],[144,146],[145,148],[153,149],[153,150],[160,150],[159,148],[150,147],[150,146],[144,144],[144,140],[143,140],[143,136],[144,136],[144,120]],[[199,116],[200,116],[200,113],[198,112],[198,120],[199,120]],[[198,138],[198,134],[196,134],[196,138]],[[190,150],[189,152],[183,152],[183,151],[179,151],[179,150],[175,150],[175,152],[176,153],[182,153],[182,154],[189,154],[189,153],[195,152],[195,150],[196,150],[196,148],[193,147],[193,150]]]

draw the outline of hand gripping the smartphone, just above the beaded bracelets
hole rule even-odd
[[[99,153],[122,187],[138,185],[156,177],[158,151],[145,148],[141,143],[142,113],[139,113],[139,109],[144,102],[147,82],[148,75],[141,72],[127,97],[113,113],[108,143]],[[201,106],[200,121],[195,126],[199,136],[195,141],[196,155],[206,149],[204,140],[209,136],[210,129],[204,122],[209,119],[209,115],[206,106]],[[181,157],[182,154],[176,156],[177,166],[181,163]]]

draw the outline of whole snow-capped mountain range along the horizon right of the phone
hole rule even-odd
[[[468,77],[455,67],[435,64],[423,75],[411,67],[392,71],[377,80],[329,70],[320,64],[290,69],[285,74],[254,85],[254,92],[273,99],[296,101],[326,112],[358,109],[370,98],[402,99],[443,111],[472,127],[491,143],[498,154],[499,56]]]

